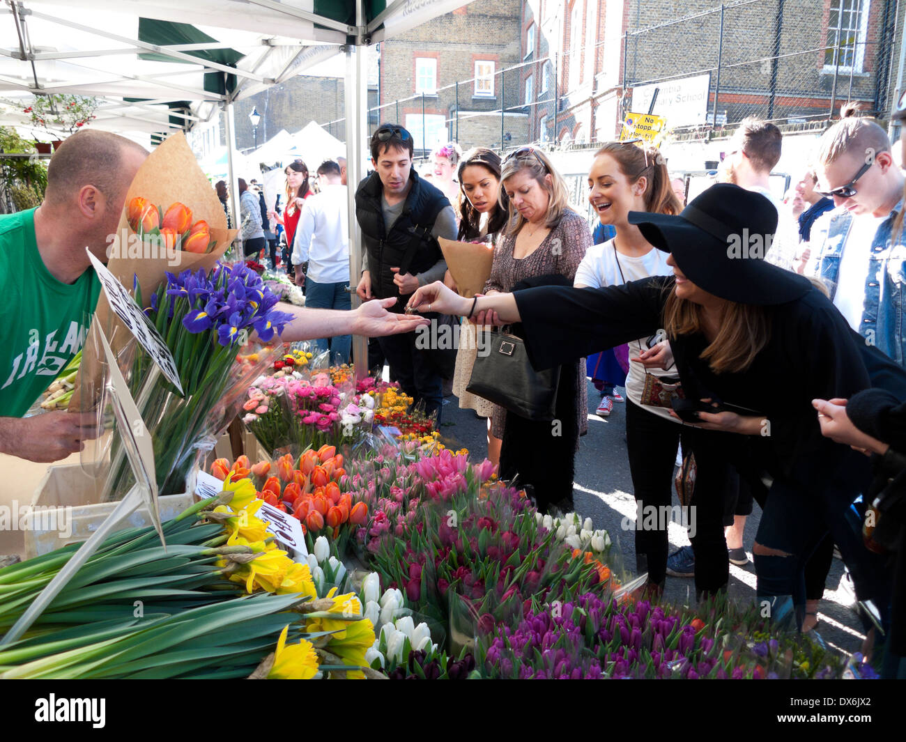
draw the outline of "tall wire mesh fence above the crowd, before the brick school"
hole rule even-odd
[[[619,59],[614,65],[619,74],[600,62],[597,51],[604,42],[593,43],[590,50],[566,48],[551,39],[550,53],[496,70],[494,109],[461,110],[461,102],[473,101],[470,91],[476,78],[468,78],[432,94],[371,108],[369,128],[373,131],[383,120],[402,123],[401,111],[420,107],[421,132],[413,132],[417,159],[427,158],[441,139],[456,141],[463,149],[482,145],[506,151],[527,142],[549,149],[588,148],[599,136],[612,139],[628,112],[648,112],[639,106],[644,102],[647,109],[652,88],[662,93],[690,78],[699,78],[699,87],[705,79],[706,101],[694,122],[665,112],[670,135],[680,140],[726,135],[747,116],[774,121],[784,130],[820,128],[839,114],[844,101],[859,101],[865,113],[881,118],[890,109],[900,72],[899,44],[894,40],[902,36],[906,11],[900,3],[829,0],[827,7],[814,0],[739,0],[724,5],[685,0],[681,8],[686,14],[680,18],[673,17],[675,4],[628,0],[628,5],[629,27],[619,40],[619,54],[607,56]],[[587,67],[590,59],[595,68],[583,72],[582,82],[577,82],[573,68]],[[526,97],[525,77],[530,71],[535,90]],[[642,97],[646,89],[649,95]],[[608,110],[612,120],[582,119],[595,115],[588,111],[608,96],[618,100]],[[664,111],[663,94],[660,99],[654,112]],[[429,136],[430,114],[425,113],[432,107],[448,111],[437,141]],[[605,115],[600,110],[597,115]],[[507,123],[513,114],[525,117],[524,128],[514,127],[512,120]],[[469,126],[476,119],[483,121],[480,135]],[[333,133],[342,123],[341,119],[322,125]],[[578,131],[579,136],[564,137],[564,130]]]

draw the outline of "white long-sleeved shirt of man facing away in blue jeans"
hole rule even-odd
[[[305,199],[295,230],[293,265],[308,261],[316,284],[349,281],[349,201],[346,187],[325,186]]]

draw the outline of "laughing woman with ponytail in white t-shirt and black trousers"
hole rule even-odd
[[[615,227],[616,236],[589,248],[576,271],[574,285],[602,288],[653,275],[672,275],[667,253],[651,245],[639,227],[628,220],[631,211],[679,214],[682,210],[658,149],[619,141],[605,144],[595,153],[588,187],[588,199],[601,223]],[[639,356],[654,355],[651,350],[659,349],[661,337],[645,336],[629,347],[630,357],[636,362],[631,363],[626,377],[626,445],[632,487],[641,507],[670,506],[673,464],[682,427],[670,415],[669,407],[676,370],[654,368],[657,361],[645,361],[652,366],[647,369],[639,361]],[[659,524],[662,527],[652,531],[643,527],[643,518],[638,520],[637,571],[647,572],[651,590],[660,593],[667,568],[667,524]]]

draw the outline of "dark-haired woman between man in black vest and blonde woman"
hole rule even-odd
[[[458,169],[459,181],[459,232],[460,242],[485,242],[493,249],[496,238],[506,226],[506,209],[509,201],[500,191],[500,156],[487,147],[469,150]],[[447,272],[445,283],[455,289]],[[466,391],[477,357],[477,328],[462,323],[459,332],[459,350],[456,371],[453,374],[453,393],[459,398],[462,410],[475,410],[479,417],[487,418],[487,458],[500,463],[500,438],[491,431],[494,404]]]

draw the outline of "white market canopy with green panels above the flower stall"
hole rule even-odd
[[[34,95],[71,93],[100,99],[99,129],[188,129],[344,44],[378,43],[467,2],[6,0],[0,96],[23,105],[5,106],[0,124],[28,126]]]

